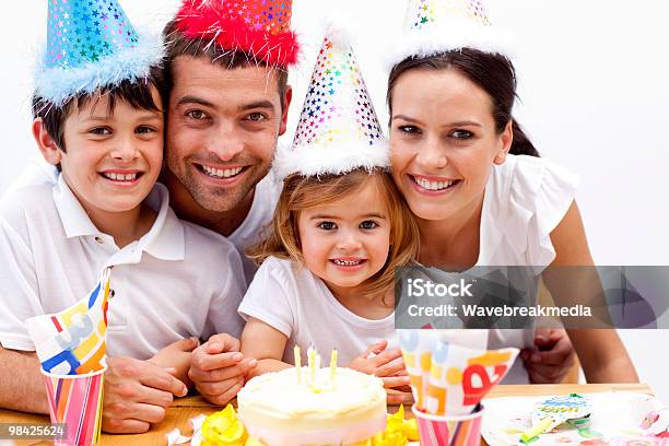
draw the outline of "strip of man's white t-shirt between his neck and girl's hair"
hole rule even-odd
[[[254,280],[254,274],[258,267],[251,259],[246,257],[246,248],[263,239],[265,232],[269,228],[274,216],[274,209],[281,195],[281,188],[282,184],[275,180],[272,172],[262,178],[256,186],[254,202],[248,211],[248,215],[246,215],[239,227],[227,237],[239,251],[247,284]]]

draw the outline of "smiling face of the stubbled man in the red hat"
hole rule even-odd
[[[175,58],[172,74],[167,167],[199,206],[230,211],[269,172],[291,91],[280,97],[272,69],[191,56]]]

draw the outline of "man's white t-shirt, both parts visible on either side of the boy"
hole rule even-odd
[[[9,191],[21,189],[25,186],[37,186],[40,184],[56,184],[58,171],[44,159],[33,159],[22,175],[10,186]],[[242,258],[242,267],[246,283],[249,284],[258,267],[246,257],[246,249],[262,240],[263,231],[267,230],[274,216],[277,201],[281,195],[282,184],[274,177],[273,171],[262,178],[254,191],[254,202],[248,215],[242,224],[226,237],[237,248]],[[9,192],[8,191],[8,192]]]

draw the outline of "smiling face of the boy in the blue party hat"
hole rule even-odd
[[[157,90],[154,103],[162,108]],[[89,212],[136,209],[155,184],[163,161],[163,114],[134,109],[108,96],[89,101],[64,121],[62,175]]]

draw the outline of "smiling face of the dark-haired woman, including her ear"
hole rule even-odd
[[[444,220],[482,202],[493,163],[510,148],[488,93],[457,70],[412,70],[392,91],[392,177],[411,211]]]

